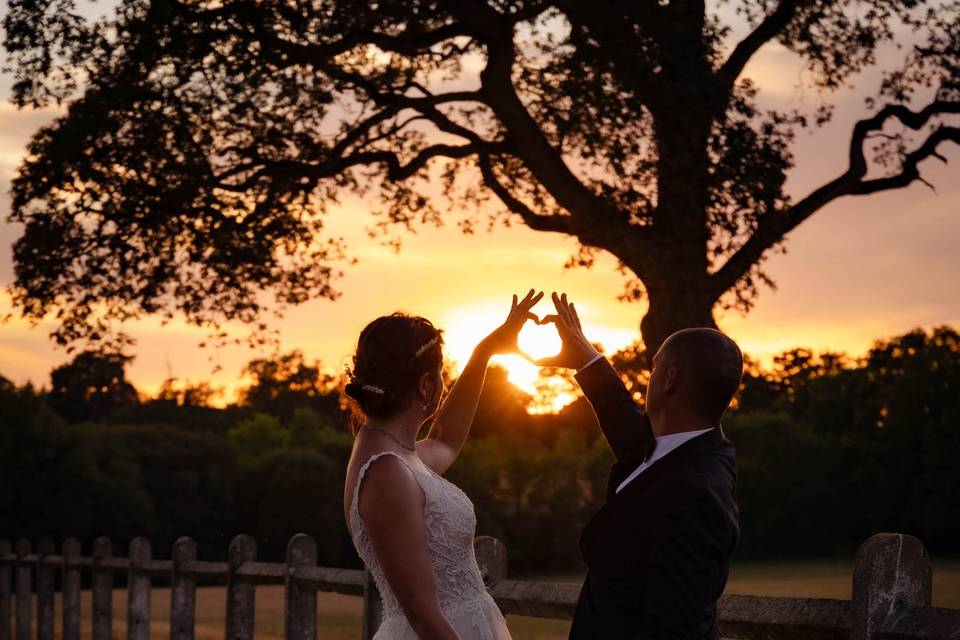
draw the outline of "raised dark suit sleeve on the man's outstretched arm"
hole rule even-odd
[[[620,374],[606,358],[600,358],[578,371],[575,378],[617,462],[642,462],[653,442],[653,431],[650,419],[634,402]]]

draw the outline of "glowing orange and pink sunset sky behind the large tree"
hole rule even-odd
[[[779,45],[768,45],[748,67],[768,105],[811,105],[809,88],[797,60]],[[877,75],[867,73],[837,94],[834,121],[812,135],[801,133],[794,145],[797,168],[788,188],[803,196],[832,179],[846,165],[852,123],[867,114],[863,97],[874,93]],[[10,77],[0,75],[0,93],[9,96]],[[31,134],[56,110],[17,111],[0,105],[0,218],[9,211],[10,180]],[[936,192],[916,184],[909,189],[861,198],[845,198],[817,213],[789,238],[786,255],[772,256],[768,272],[778,285],[765,289],[746,317],[719,319],[743,350],[761,360],[779,351],[806,346],[862,354],[876,338],[914,327],[960,325],[960,151],[941,151],[951,161],[923,165]],[[274,322],[282,349],[301,349],[331,371],[342,371],[358,332],[372,318],[404,310],[432,319],[446,332],[447,355],[463,364],[473,345],[506,315],[510,296],[530,287],[547,291],[535,312],[552,310],[549,292],[565,291],[577,303],[589,337],[615,351],[635,340],[645,306],[616,300],[622,276],[607,257],[590,270],[564,271],[576,243],[557,234],[515,225],[493,233],[465,236],[451,224],[404,237],[399,255],[366,238],[370,205],[344,198],[327,223],[347,238],[359,263],[337,283],[335,301],[317,300],[290,310]],[[0,222],[0,284],[13,277],[11,243],[16,225]],[[0,315],[10,310],[0,293]],[[17,383],[49,384],[51,368],[69,359],[47,334],[51,325],[30,328],[19,320],[0,325],[0,374]],[[129,327],[137,339],[129,377],[152,393],[168,372],[182,380],[209,380],[229,399],[243,364],[265,355],[247,348],[200,349],[201,330],[175,322],[161,326],[144,320]],[[243,334],[244,327],[232,327]],[[531,350],[556,346],[552,329],[531,327],[523,344]],[[537,334],[538,335],[534,335]],[[546,345],[546,346],[544,346]],[[212,374],[219,365],[220,371]],[[515,381],[529,388],[534,369],[514,363]]]

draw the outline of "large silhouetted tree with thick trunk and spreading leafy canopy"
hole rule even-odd
[[[336,296],[346,247],[323,223],[349,192],[388,234],[499,219],[576,238],[572,265],[612,254],[656,348],[749,309],[811,215],[922,181],[960,142],[953,0],[123,0],[97,22],[9,4],[15,102],[67,103],[13,185],[12,292],[66,342]],[[759,106],[744,69],[774,43],[808,110]],[[891,52],[847,168],[790,197],[796,132]]]

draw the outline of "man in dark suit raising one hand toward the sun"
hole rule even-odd
[[[546,320],[563,348],[537,363],[577,370],[616,456],[606,502],[580,538],[587,576],[570,638],[718,638],[739,533],[736,460],[720,418],[740,385],[740,349],[713,329],[674,333],[653,358],[644,412],[566,294],[553,302]]]

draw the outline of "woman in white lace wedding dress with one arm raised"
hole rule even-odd
[[[347,466],[344,508],[360,557],[383,597],[375,640],[509,640],[473,553],[473,503],[441,476],[463,448],[491,356],[517,335],[543,293],[513,297],[446,399],[443,341],[429,320],[394,313],[360,333],[349,395],[363,416]],[[443,400],[441,402],[441,400]],[[430,418],[427,437],[417,440]]]

